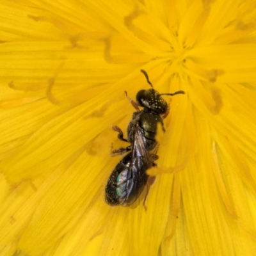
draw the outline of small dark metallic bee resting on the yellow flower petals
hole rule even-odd
[[[145,75],[151,89],[140,90],[136,95],[136,102],[127,97],[136,109],[127,127],[127,139],[124,138],[124,133],[119,127],[113,126],[113,130],[118,132],[118,139],[130,145],[112,151],[113,156],[126,154],[111,173],[105,188],[106,203],[112,206],[134,204],[148,182],[149,176],[146,171],[156,166],[154,161],[158,159],[157,125],[160,124],[164,131],[163,119],[168,115],[168,104],[161,96],[185,93],[178,91],[160,94],[154,90],[147,72],[145,70],[141,72]],[[125,94],[127,96],[126,92]],[[139,107],[143,109],[140,110]]]

